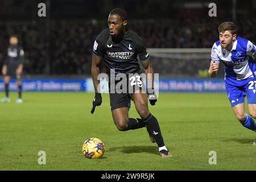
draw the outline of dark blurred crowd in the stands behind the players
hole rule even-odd
[[[220,23],[217,19],[143,19],[129,20],[128,28],[137,32],[148,48],[210,48],[218,40],[217,27]],[[238,20],[238,35],[256,43],[255,23],[255,18]],[[1,57],[3,60],[9,36],[16,34],[26,53],[25,73],[44,75],[47,60],[50,60],[51,75],[89,75],[93,42],[106,27],[106,20],[52,20],[47,35],[45,22],[0,24]],[[176,64],[184,63],[178,61]],[[171,65],[170,62],[170,68],[165,66],[163,70],[172,72]],[[192,66],[197,65],[200,64]],[[208,62],[205,65],[207,67]],[[191,69],[191,72],[196,69]]]

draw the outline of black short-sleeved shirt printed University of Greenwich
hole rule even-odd
[[[110,75],[110,69],[111,71],[114,69],[115,75],[118,73],[125,75],[129,73],[141,74],[142,69],[139,66],[139,60],[141,62],[147,61],[150,57],[143,40],[129,29],[117,41],[109,34],[109,28],[106,28],[95,40],[93,53],[104,58],[108,75]]]

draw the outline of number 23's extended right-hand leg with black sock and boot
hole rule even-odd
[[[148,109],[147,95],[142,92],[135,92],[133,94],[133,101],[138,114],[144,122],[146,122],[148,133],[154,138],[154,142],[158,144],[159,153],[163,158],[169,158],[172,155],[164,145],[164,140],[159,127],[157,119],[152,115]]]

